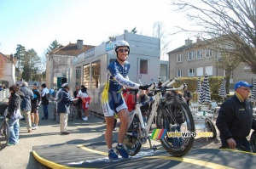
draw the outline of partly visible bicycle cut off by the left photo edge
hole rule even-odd
[[[6,118],[7,108],[7,104],[0,105],[0,119],[3,121],[3,124],[0,127],[0,150],[4,149],[9,141],[9,125]]]

